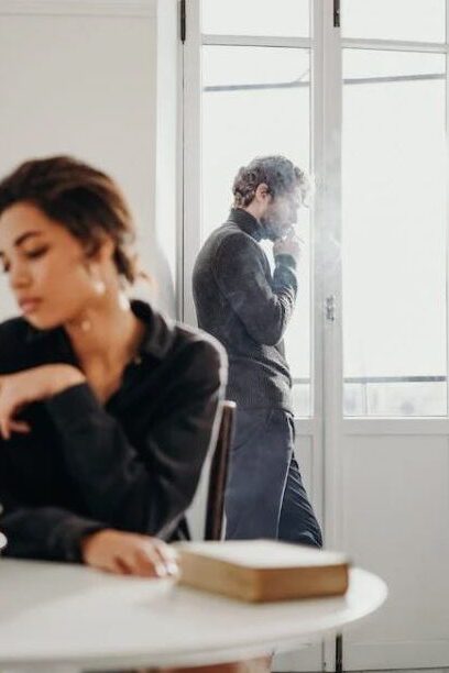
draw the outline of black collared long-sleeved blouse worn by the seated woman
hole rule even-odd
[[[0,437],[6,555],[80,561],[103,528],[185,538],[226,384],[226,355],[205,333],[132,301],[146,330],[120,388],[102,406],[88,384],[24,409],[29,434]],[[77,365],[65,331],[22,318],[0,324],[0,374]]]

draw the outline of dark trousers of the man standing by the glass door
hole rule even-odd
[[[287,411],[238,409],[226,496],[227,539],[278,538],[321,547],[294,442]]]

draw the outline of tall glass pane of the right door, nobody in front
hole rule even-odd
[[[348,416],[447,409],[445,57],[346,49]]]

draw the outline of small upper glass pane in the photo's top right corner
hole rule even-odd
[[[446,0],[341,0],[344,37],[445,42]]]

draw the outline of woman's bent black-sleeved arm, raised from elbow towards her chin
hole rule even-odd
[[[140,452],[88,385],[46,400],[92,518],[171,539],[195,495],[223,385],[221,351],[206,339],[189,342],[164,418]]]

